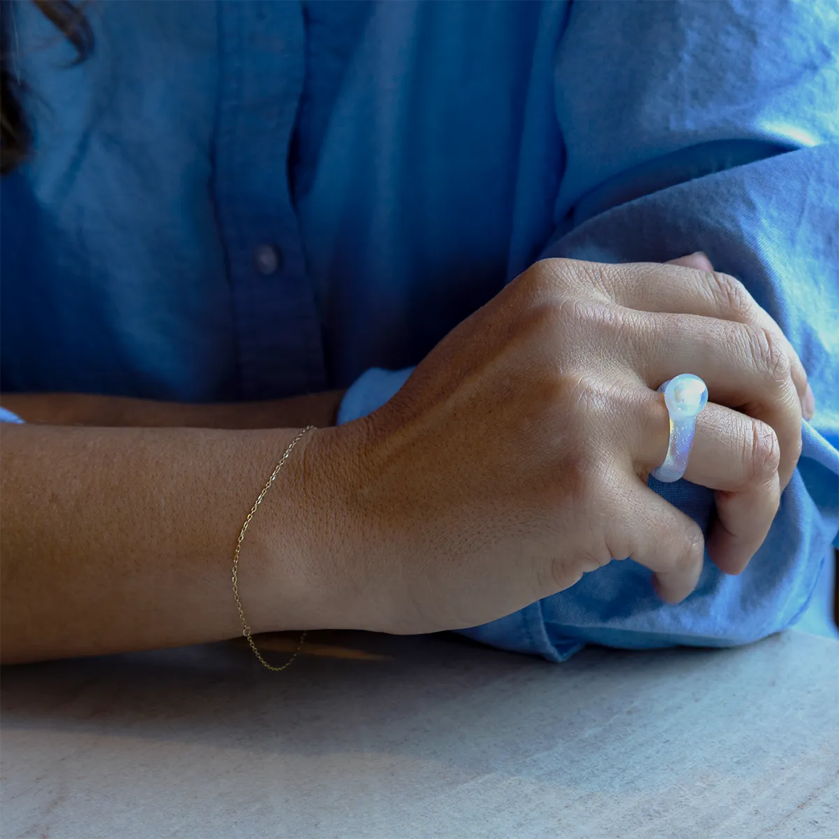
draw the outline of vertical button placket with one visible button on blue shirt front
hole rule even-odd
[[[230,266],[238,392],[314,393],[328,381],[288,167],[305,82],[300,0],[219,0],[218,8],[214,194]]]

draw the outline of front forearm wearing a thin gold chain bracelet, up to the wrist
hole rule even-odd
[[[0,427],[0,662],[241,633],[233,549],[295,433]],[[314,443],[300,441],[242,548],[254,632],[335,623],[314,594],[335,521]]]

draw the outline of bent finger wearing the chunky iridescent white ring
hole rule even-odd
[[[660,431],[639,440],[644,471],[664,462],[670,437],[663,400],[653,401],[644,425]],[[743,571],[769,534],[780,503],[779,459],[778,438],[760,420],[712,403],[696,418],[685,480],[715,490],[717,519],[706,547],[727,574]]]

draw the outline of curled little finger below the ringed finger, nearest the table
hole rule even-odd
[[[653,571],[664,601],[684,600],[702,573],[705,539],[699,525],[641,483],[628,482],[622,498],[621,512],[612,518],[612,556]]]

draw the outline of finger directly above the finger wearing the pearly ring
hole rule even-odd
[[[801,409],[776,333],[696,315],[634,317],[641,323],[624,330],[623,340],[644,383],[655,389],[678,373],[694,373],[708,386],[711,402],[770,425],[778,435],[779,477],[786,487],[801,453]]]

